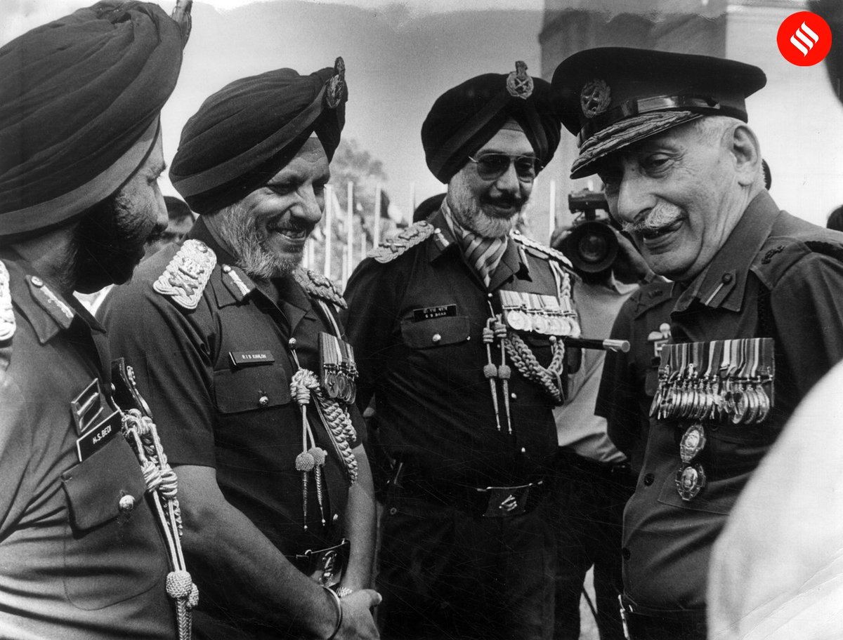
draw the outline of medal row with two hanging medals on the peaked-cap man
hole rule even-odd
[[[773,406],[773,339],[749,338],[665,345],[650,415],[679,420],[682,465],[676,489],[694,499],[706,486],[698,456],[706,426],[760,424]],[[688,424],[690,422],[690,425]]]

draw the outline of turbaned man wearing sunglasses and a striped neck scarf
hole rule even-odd
[[[421,141],[448,193],[346,288],[357,403],[374,397],[395,469],[379,556],[385,637],[552,637],[545,472],[559,337],[578,327],[566,260],[513,227],[559,137],[550,85],[523,62],[443,93]]]

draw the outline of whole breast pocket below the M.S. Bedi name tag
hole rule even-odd
[[[164,541],[144,499],[140,465],[126,440],[117,436],[62,473],[62,487],[68,508],[64,584],[73,605],[86,611],[102,609],[164,580]]]

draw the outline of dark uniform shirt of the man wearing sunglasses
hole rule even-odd
[[[512,366],[513,435],[497,429],[483,375],[482,329],[501,289],[556,296],[545,253],[512,239],[488,288],[466,264],[442,211],[438,229],[389,264],[364,260],[346,287],[346,330],[360,367],[358,402],[375,395],[379,442],[426,482],[445,486],[515,485],[545,471],[556,451],[552,401]],[[499,308],[495,312],[500,312]],[[524,338],[541,365],[550,362],[547,336]],[[500,364],[500,346],[493,361]]]

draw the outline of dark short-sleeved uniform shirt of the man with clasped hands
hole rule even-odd
[[[170,464],[214,467],[228,503],[294,561],[294,554],[339,541],[349,481],[310,403],[316,444],[328,452],[323,474],[327,525],[320,524],[311,474],[308,531],[303,531],[302,476],[294,466],[302,452],[302,419],[290,392],[296,366],[288,340],[296,339],[298,360],[318,376],[318,334],[334,332],[292,276],[259,287],[231,266],[234,259],[214,241],[204,222],[197,221],[189,237],[206,243],[217,255],[196,309],[180,307],[153,290],[153,282],[179,249],[164,248],[103,304],[104,323],[113,332],[112,349],[135,363],[137,386],[152,408]],[[356,408],[351,413],[360,439],[349,443],[354,447],[362,441],[365,426]],[[200,610],[236,619],[236,611],[208,608],[220,601],[224,577],[191,570],[201,593],[209,596],[200,598]]]

